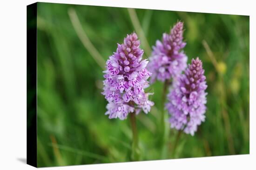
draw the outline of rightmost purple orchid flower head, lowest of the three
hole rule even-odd
[[[205,120],[206,77],[202,61],[197,57],[192,59],[185,74],[177,77],[168,94],[166,108],[171,115],[171,128],[182,130],[192,136]]]

